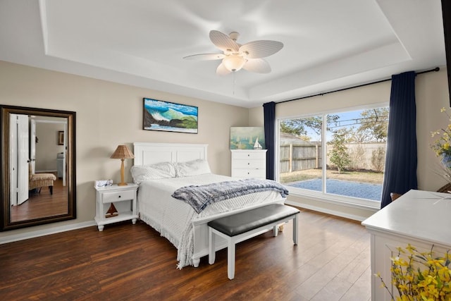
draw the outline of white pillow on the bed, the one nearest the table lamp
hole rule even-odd
[[[133,182],[137,185],[143,180],[175,178],[175,168],[171,162],[161,162],[152,165],[132,166]]]

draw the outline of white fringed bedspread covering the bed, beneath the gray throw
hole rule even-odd
[[[179,269],[182,269],[183,266],[192,265],[194,250],[193,219],[240,209],[253,204],[273,202],[273,200],[281,198],[280,193],[276,191],[257,192],[210,204],[204,211],[197,214],[189,204],[171,197],[173,192],[181,187],[228,180],[237,179],[209,173],[200,176],[146,180],[140,184],[138,190],[140,219],[159,231],[161,236],[167,238],[177,248]]]

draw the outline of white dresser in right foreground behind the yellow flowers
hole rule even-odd
[[[372,301],[391,300],[374,274],[380,273],[385,283],[390,283],[390,257],[397,256],[397,247],[405,249],[409,243],[428,252],[433,245],[435,254],[442,257],[450,250],[450,216],[450,194],[410,190],[362,222],[371,233]]]

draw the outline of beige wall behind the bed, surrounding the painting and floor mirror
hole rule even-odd
[[[143,97],[199,107],[199,133],[142,130]],[[231,126],[247,126],[249,110],[140,87],[119,85],[77,75],[0,61],[0,104],[75,111],[77,151],[77,216],[44,226],[0,233],[26,235],[55,227],[93,223],[94,180],[120,180],[119,160],[109,159],[117,145],[132,142],[183,142],[209,145],[208,161],[214,173],[230,176]],[[55,154],[56,156],[56,154]],[[125,160],[125,180],[131,181],[132,160]],[[74,226],[75,227],[75,226]],[[25,234],[24,234],[25,233]],[[11,238],[10,238],[11,239]]]

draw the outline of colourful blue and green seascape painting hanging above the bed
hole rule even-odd
[[[197,134],[197,106],[144,98],[143,129]]]

